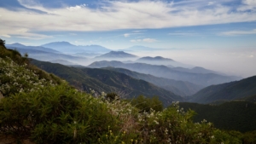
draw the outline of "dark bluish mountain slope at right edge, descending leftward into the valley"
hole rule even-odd
[[[240,81],[209,86],[192,95],[189,101],[210,103],[213,101],[236,100],[250,95],[256,95],[256,76],[241,79]]]

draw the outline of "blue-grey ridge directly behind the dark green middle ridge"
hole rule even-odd
[[[193,95],[197,91],[202,89],[201,86],[192,84],[189,82],[177,81],[177,80],[172,80],[168,78],[158,78],[149,74],[132,72],[130,70],[123,69],[123,68],[106,67],[106,69],[125,73],[126,75],[132,78],[143,79],[144,81],[154,84],[162,89],[172,91],[176,95],[181,95],[181,96]]]

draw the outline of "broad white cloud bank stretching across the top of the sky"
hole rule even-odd
[[[227,0],[224,0],[226,2]],[[0,35],[17,35],[14,29],[26,28],[24,37],[41,37],[37,32],[65,31],[92,32],[124,29],[159,29],[177,26],[201,26],[256,20],[254,0],[244,0],[244,6],[253,7],[247,11],[236,12],[233,5],[224,5],[217,1],[208,7],[209,2],[202,0],[168,3],[166,1],[106,1],[106,5],[93,9],[84,4],[73,7],[45,8],[33,0],[19,0],[29,9],[38,9],[44,13],[20,9],[12,11],[0,8]],[[184,4],[185,3],[185,4]],[[237,6],[236,9],[241,9]],[[232,11],[232,13],[230,13]],[[3,32],[4,31],[4,32]],[[139,31],[139,30],[138,30]],[[136,32],[135,32],[136,33]],[[131,35],[131,34],[130,34]],[[129,34],[124,36],[129,37]]]

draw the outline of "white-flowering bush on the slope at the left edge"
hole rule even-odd
[[[18,92],[34,91],[45,85],[54,85],[26,68],[26,64],[19,66],[13,60],[0,58],[0,91],[4,96]]]

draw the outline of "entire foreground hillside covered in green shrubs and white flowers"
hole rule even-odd
[[[177,103],[162,112],[140,112],[127,101],[79,92],[32,66],[0,39],[0,143],[241,143]],[[25,141],[26,140],[26,141]]]

